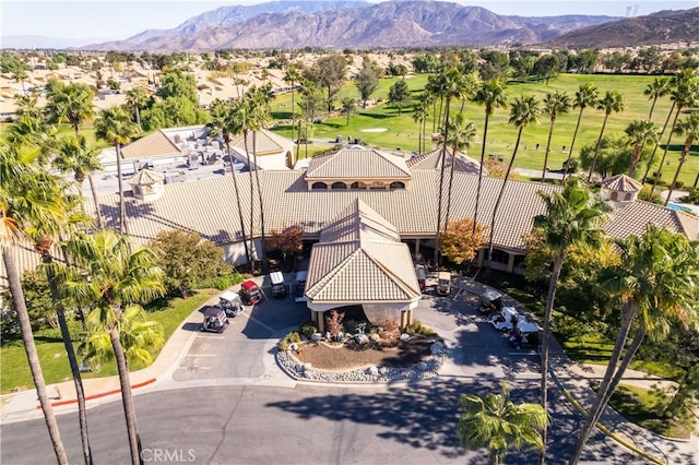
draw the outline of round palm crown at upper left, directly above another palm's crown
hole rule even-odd
[[[93,117],[93,98],[95,93],[87,84],[71,83],[55,87],[49,94],[47,111],[55,121],[60,124],[68,120],[79,134],[80,124]]]

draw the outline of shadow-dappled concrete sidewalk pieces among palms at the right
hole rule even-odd
[[[469,278],[459,279],[455,285],[475,295],[482,295],[490,288]],[[507,295],[503,296],[502,301],[506,306],[526,312],[524,306]],[[552,337],[549,370],[552,381],[559,389],[569,392],[572,398],[589,412],[596,394],[590,388],[590,382],[602,380],[606,366],[579,363],[570,360],[558,341]],[[626,370],[621,383],[642,389],[657,388],[662,390],[667,390],[674,384],[672,381],[637,370]],[[666,439],[628,421],[611,407],[605,408],[600,422],[616,436],[665,463],[687,463],[687,457],[695,457],[696,461],[699,456],[699,437],[696,434],[692,434],[687,441]],[[699,421],[697,427],[699,428]]]

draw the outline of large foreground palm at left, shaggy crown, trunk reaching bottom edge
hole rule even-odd
[[[66,248],[79,270],[66,278],[62,287],[68,296],[94,308],[87,317],[88,327],[93,330],[87,339],[92,343],[90,347],[97,348],[97,341],[104,345],[108,337],[117,361],[131,462],[139,464],[141,441],[127,360],[132,341],[126,330],[129,319],[138,313],[139,303],[147,303],[165,294],[163,271],[155,265],[153,249],[140,248],[131,252],[128,237],[114,229],[79,234],[67,242]],[[97,334],[99,332],[104,335]],[[122,339],[127,343],[122,344]]]

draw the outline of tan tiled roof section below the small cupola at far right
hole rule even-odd
[[[642,236],[649,223],[675,233],[683,233],[690,240],[699,239],[699,217],[643,201],[631,202],[616,208],[607,219],[605,230],[615,239],[623,239],[630,235]]]

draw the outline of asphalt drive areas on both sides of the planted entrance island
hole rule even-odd
[[[199,325],[191,325],[197,334],[173,375],[176,381],[264,374],[265,366],[273,365],[270,356],[279,339],[297,331],[299,323],[310,319],[310,311],[288,296],[272,297],[269,287],[262,290],[265,298],[229,318],[230,326],[221,334],[199,332]],[[455,286],[449,296],[426,294],[414,318],[447,341],[448,374],[488,379],[537,375],[538,354],[512,347],[507,334],[493,327],[490,317],[478,311],[478,297],[473,294]]]

